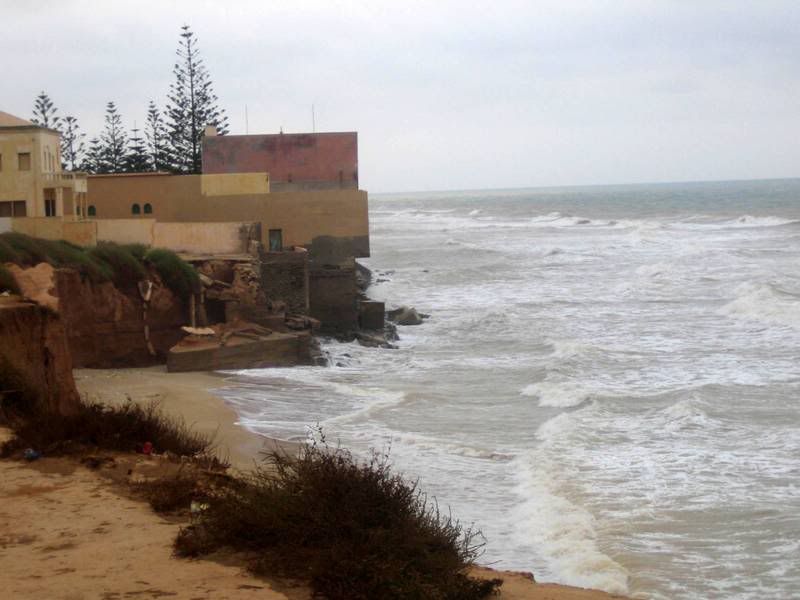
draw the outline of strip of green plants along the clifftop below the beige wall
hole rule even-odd
[[[142,244],[112,242],[103,242],[95,248],[82,248],[63,240],[43,240],[8,232],[0,234],[0,291],[18,291],[13,277],[2,267],[3,263],[30,267],[42,262],[54,267],[69,267],[92,281],[111,281],[120,288],[147,278],[152,267],[164,285],[180,298],[187,298],[200,286],[194,267],[170,250],[148,250]]]

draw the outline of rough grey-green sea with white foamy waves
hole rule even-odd
[[[254,431],[320,423],[487,544],[635,598],[800,597],[800,180],[373,195],[397,350],[241,371]]]

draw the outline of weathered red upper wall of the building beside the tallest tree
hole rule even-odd
[[[267,171],[273,184],[358,188],[358,134],[280,133],[203,138],[203,173]]]

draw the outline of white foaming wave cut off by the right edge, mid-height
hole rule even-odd
[[[770,283],[747,282],[736,288],[737,297],[719,314],[800,329],[800,297]]]

